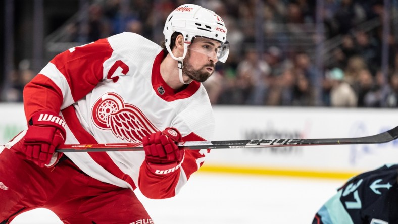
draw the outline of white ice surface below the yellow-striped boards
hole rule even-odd
[[[137,192],[157,224],[311,223],[344,180],[198,172],[174,198],[151,200]],[[62,223],[35,209],[11,224]]]

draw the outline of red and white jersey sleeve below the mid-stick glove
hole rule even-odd
[[[194,133],[183,137],[182,140],[204,141],[203,138]],[[210,152],[210,149],[207,149],[207,152]],[[184,185],[191,174],[202,166],[205,156],[201,150],[185,150],[184,161],[180,168],[162,175],[151,172],[146,161],[144,161],[140,167],[138,177],[138,187],[141,193],[152,199],[174,197],[179,187]]]

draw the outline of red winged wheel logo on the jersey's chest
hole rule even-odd
[[[143,115],[136,106],[124,103],[116,93],[102,95],[91,111],[94,124],[112,133],[122,140],[138,143],[142,138],[158,129]]]

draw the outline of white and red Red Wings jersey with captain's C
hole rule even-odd
[[[165,55],[154,42],[121,33],[57,55],[24,89],[27,120],[42,109],[60,111],[66,144],[140,143],[177,128],[184,141],[212,138],[215,122],[201,83],[176,92],[160,75]],[[174,196],[203,164],[209,150],[186,150],[180,169],[148,170],[143,151],[65,153],[84,173],[150,198]]]

